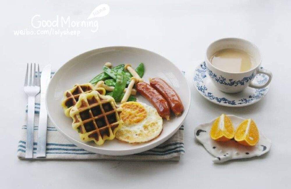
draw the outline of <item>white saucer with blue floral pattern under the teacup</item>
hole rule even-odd
[[[254,83],[263,85],[267,83],[268,76],[257,74],[253,79]],[[247,87],[242,92],[225,93],[217,89],[207,74],[205,62],[196,67],[193,78],[194,86],[197,91],[207,100],[214,104],[228,107],[242,107],[255,104],[262,99],[269,91],[269,85],[262,89]]]

